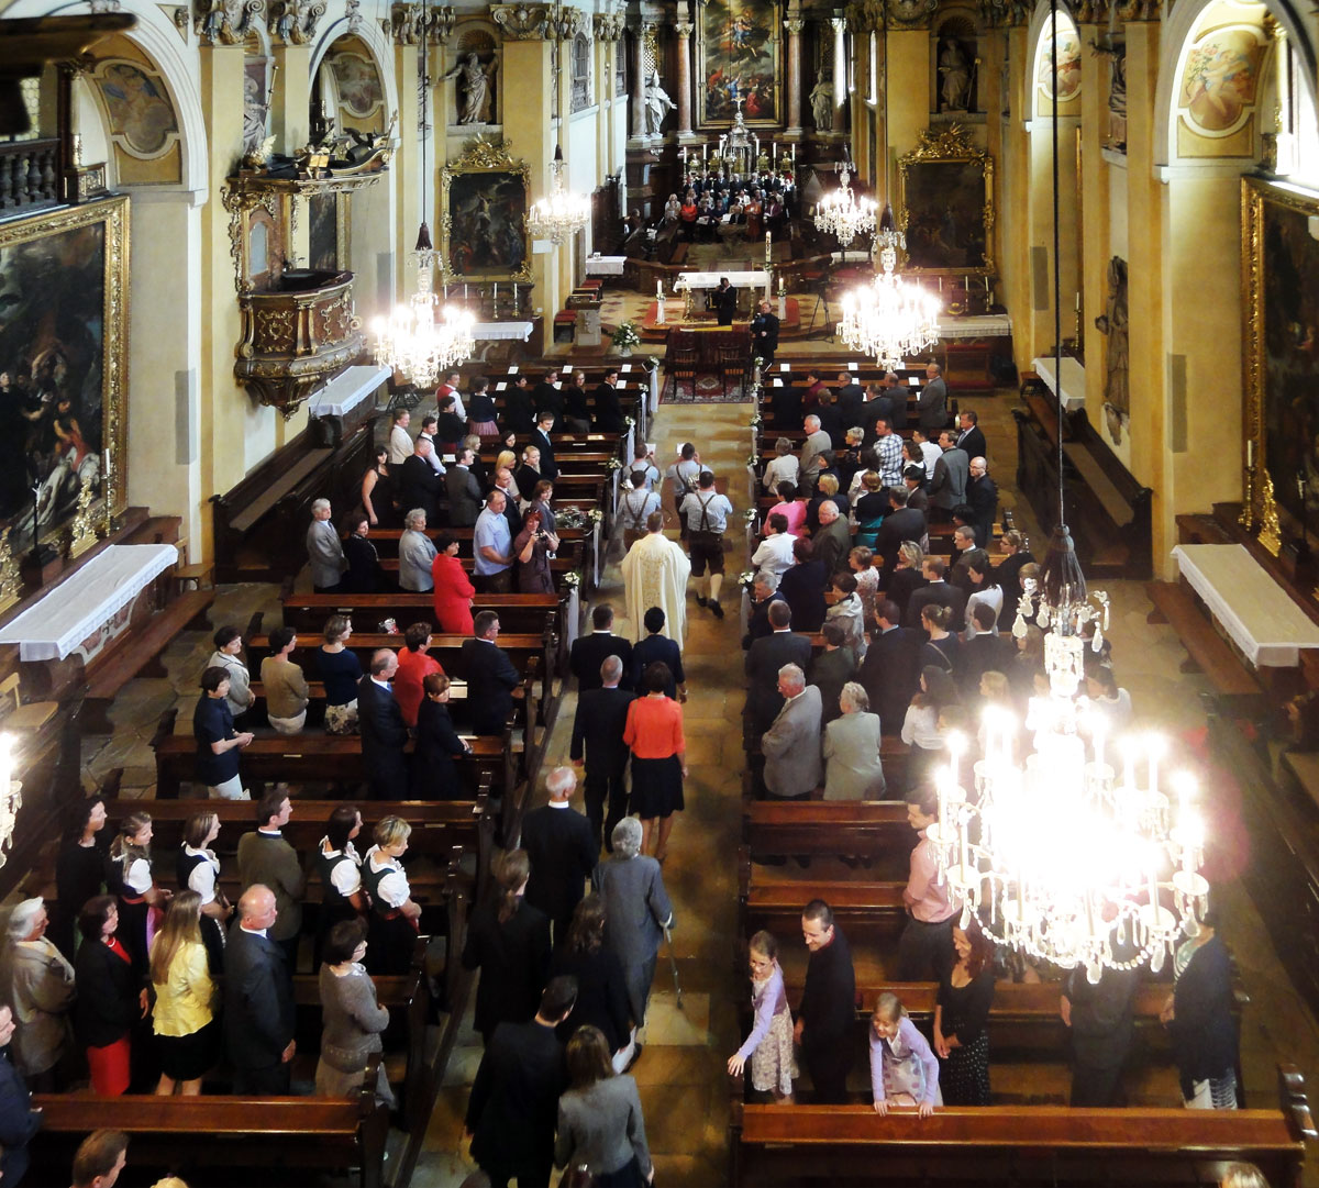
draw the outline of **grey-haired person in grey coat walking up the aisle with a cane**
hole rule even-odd
[[[595,868],[591,885],[604,901],[604,943],[623,965],[634,1040],[636,1027],[646,1019],[660,941],[673,927],[673,905],[660,864],[641,853],[641,821],[625,816],[611,841],[613,853]]]

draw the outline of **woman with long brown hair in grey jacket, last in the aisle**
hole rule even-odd
[[[654,1168],[637,1083],[615,1073],[608,1042],[595,1027],[582,1027],[568,1040],[567,1065],[554,1163],[584,1167],[594,1184],[644,1188]]]

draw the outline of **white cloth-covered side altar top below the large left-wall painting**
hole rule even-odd
[[[111,545],[0,629],[24,661],[62,661],[178,562],[173,545]]]

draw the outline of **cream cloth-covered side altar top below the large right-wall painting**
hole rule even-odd
[[[1244,545],[1178,545],[1182,576],[1256,667],[1293,668],[1319,647],[1315,624]]]

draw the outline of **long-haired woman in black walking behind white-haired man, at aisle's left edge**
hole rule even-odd
[[[550,918],[522,899],[530,873],[526,850],[504,854],[499,899],[476,908],[467,930],[463,968],[481,972],[476,1030],[487,1044],[500,1023],[532,1019],[550,969]]]

